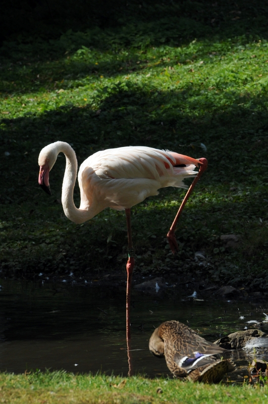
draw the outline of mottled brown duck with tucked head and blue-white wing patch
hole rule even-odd
[[[174,377],[194,382],[219,383],[236,368],[230,359],[216,359],[226,349],[206,341],[179,321],[166,321],[157,327],[149,340],[150,352],[165,357]]]

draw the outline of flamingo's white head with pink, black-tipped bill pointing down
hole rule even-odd
[[[57,150],[54,147],[51,147],[52,144],[48,144],[48,146],[45,146],[40,151],[38,158],[38,164],[40,166],[38,183],[40,187],[46,193],[48,193],[48,195],[51,195],[49,186],[49,171],[55,164],[58,156]]]

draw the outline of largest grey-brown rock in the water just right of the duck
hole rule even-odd
[[[233,332],[227,337],[218,339],[214,343],[225,349],[242,349],[245,347],[248,341],[259,337],[267,337],[267,334],[257,329],[251,329],[246,331]]]

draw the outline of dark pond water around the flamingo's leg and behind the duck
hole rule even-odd
[[[0,370],[64,369],[127,376],[125,288],[0,280]],[[133,291],[131,349],[133,373],[147,377],[171,375],[165,359],[153,357],[148,341],[154,328],[178,320],[215,341],[243,330],[249,320],[263,319],[265,308],[245,301],[193,301],[180,294]],[[244,316],[244,319],[239,319]],[[263,325],[264,331],[265,326]],[[238,376],[252,360],[231,352]],[[242,366],[242,368],[241,368]],[[239,371],[241,369],[241,371]],[[244,370],[243,370],[244,369]]]

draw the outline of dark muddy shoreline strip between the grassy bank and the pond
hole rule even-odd
[[[10,278],[3,276],[2,278]],[[120,271],[98,271],[97,274],[73,274],[68,272],[65,275],[48,273],[30,274],[30,276],[12,277],[16,280],[29,282],[55,283],[59,285],[72,285],[90,288],[119,289],[126,288],[126,273]],[[169,273],[163,275],[143,275],[139,272],[133,273],[132,292],[155,296],[179,296],[182,300],[241,300],[248,304],[265,304],[268,300],[268,292],[260,291],[256,287],[243,286],[235,287],[221,282],[213,282],[204,277],[197,277],[192,274]]]

